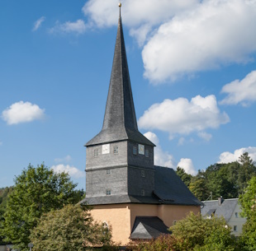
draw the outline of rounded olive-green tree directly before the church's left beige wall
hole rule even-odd
[[[33,250],[82,251],[111,244],[111,230],[92,221],[89,208],[67,205],[40,217],[31,231]]]

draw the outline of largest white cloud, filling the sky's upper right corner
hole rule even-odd
[[[165,21],[142,51],[145,77],[157,84],[229,63],[256,51],[256,1],[204,0]]]

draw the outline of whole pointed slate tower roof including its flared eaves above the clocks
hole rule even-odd
[[[149,139],[138,131],[120,16],[102,131],[85,146],[128,139],[148,146],[154,146]]]

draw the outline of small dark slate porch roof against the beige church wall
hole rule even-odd
[[[168,226],[156,216],[136,216],[130,239],[155,239],[159,235],[171,234]]]

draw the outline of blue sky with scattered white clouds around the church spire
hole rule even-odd
[[[0,187],[31,165],[85,188],[102,128],[118,0],[0,2]],[[123,0],[140,132],[155,164],[196,174],[256,160],[256,2]]]

